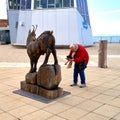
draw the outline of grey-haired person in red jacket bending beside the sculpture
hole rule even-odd
[[[80,44],[71,44],[70,52],[66,58],[68,61],[74,61],[73,83],[70,86],[77,86],[78,74],[80,75],[80,88],[86,87],[85,68],[89,61],[89,54],[84,46]]]

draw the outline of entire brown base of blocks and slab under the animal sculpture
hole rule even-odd
[[[63,94],[63,89],[58,87],[60,81],[60,65],[41,66],[38,72],[26,74],[25,81],[21,82],[21,89],[54,99]]]

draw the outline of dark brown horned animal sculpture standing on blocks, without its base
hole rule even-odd
[[[55,38],[52,35],[53,31],[45,31],[36,39],[36,29],[37,26],[36,28],[33,28],[32,32],[29,31],[27,37],[27,53],[31,64],[29,73],[36,72],[38,59],[41,55],[44,54],[46,54],[46,56],[42,65],[47,64],[51,52],[54,57],[54,64],[58,64],[55,50]]]

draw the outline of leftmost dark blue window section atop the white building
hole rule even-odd
[[[31,0],[8,0],[9,9],[25,10],[31,9]]]

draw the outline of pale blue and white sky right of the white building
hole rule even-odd
[[[120,35],[120,0],[87,0],[93,35]]]

